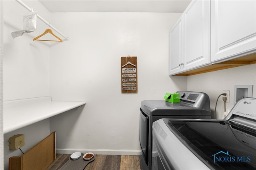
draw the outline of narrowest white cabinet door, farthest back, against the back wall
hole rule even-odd
[[[174,75],[182,71],[182,16],[170,30],[170,70],[169,74]]]

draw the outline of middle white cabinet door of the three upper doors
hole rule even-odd
[[[184,71],[210,65],[210,1],[193,0],[183,15]]]

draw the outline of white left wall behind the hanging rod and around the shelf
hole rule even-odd
[[[50,21],[48,12],[38,1],[23,1],[38,14]],[[38,28],[30,34],[12,39],[11,32],[22,30],[23,15],[29,11],[14,0],[1,1],[4,7],[3,31],[3,101],[44,97],[50,95],[50,47],[49,43],[36,42],[33,38],[42,34],[48,26],[38,20]],[[2,31],[2,30],[1,30]],[[1,36],[2,40],[2,36]],[[1,44],[2,45],[2,44]],[[2,87],[1,87],[2,88]],[[17,113],[18,114],[18,113]],[[20,150],[9,150],[8,139],[15,134],[24,134],[26,152],[50,133],[50,120],[35,123],[4,134],[4,169],[8,169],[8,158],[20,156]],[[1,148],[2,151],[2,148]],[[0,168],[1,169],[1,168]]]

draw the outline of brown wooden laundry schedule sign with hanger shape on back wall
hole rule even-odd
[[[122,93],[137,93],[137,81],[137,57],[121,57]]]

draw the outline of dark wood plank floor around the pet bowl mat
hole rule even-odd
[[[60,169],[70,158],[70,154],[56,154],[56,160],[47,170]],[[84,170],[140,170],[140,156],[133,155],[94,155]]]

